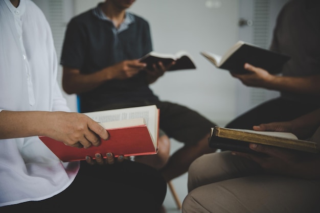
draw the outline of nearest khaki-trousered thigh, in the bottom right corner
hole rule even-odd
[[[195,188],[182,203],[182,212],[320,212],[319,191],[319,180],[266,175],[240,177]]]

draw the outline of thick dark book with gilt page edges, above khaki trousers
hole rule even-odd
[[[308,140],[300,140],[289,132],[267,132],[214,127],[212,128],[211,138],[209,140],[209,145],[212,148],[257,154],[258,152],[249,148],[249,143],[311,153],[319,152],[316,143]]]

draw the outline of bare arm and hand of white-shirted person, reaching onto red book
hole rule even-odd
[[[108,132],[88,116],[75,112],[0,112],[0,139],[45,135],[73,147],[99,146]]]

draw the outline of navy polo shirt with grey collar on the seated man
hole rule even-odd
[[[139,59],[150,51],[150,28],[145,19],[127,12],[122,26],[116,29],[98,6],[68,23],[60,64],[90,74],[123,60]],[[144,72],[126,80],[107,81],[79,96],[82,112],[108,104],[158,100]]]

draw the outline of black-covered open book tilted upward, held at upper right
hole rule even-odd
[[[254,44],[238,41],[223,56],[200,52],[202,56],[212,62],[217,68],[244,74],[248,70],[243,68],[245,63],[263,68],[271,74],[281,73],[282,66],[289,60],[289,56],[260,48]]]

